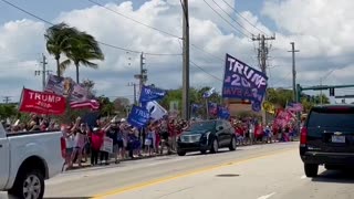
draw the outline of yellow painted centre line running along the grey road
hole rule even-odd
[[[179,178],[183,178],[183,177],[194,176],[194,175],[197,175],[197,174],[201,174],[201,172],[219,169],[219,168],[222,168],[222,167],[241,165],[241,164],[244,164],[244,163],[248,163],[248,161],[251,161],[251,160],[267,158],[267,157],[270,157],[270,156],[280,155],[280,154],[284,154],[284,153],[289,153],[289,151],[293,151],[293,150],[298,150],[298,149],[293,149],[293,148],[292,149],[282,149],[282,150],[268,153],[268,154],[256,156],[256,157],[251,157],[251,158],[239,159],[239,160],[228,161],[228,163],[223,163],[223,164],[219,164],[219,165],[215,165],[215,166],[198,168],[198,169],[195,169],[195,170],[191,170],[191,171],[181,172],[181,174],[177,174],[177,175],[174,175],[174,176],[162,177],[162,178],[148,180],[148,181],[140,182],[140,184],[136,184],[136,185],[132,185],[132,186],[127,186],[127,187],[122,187],[122,188],[118,188],[118,189],[115,189],[115,190],[112,190],[112,191],[108,191],[108,192],[105,192],[105,193],[96,195],[96,196],[92,197],[91,199],[101,199],[101,198],[105,198],[105,197],[110,197],[110,196],[121,195],[123,192],[127,192],[127,191],[133,191],[133,190],[137,190],[137,189],[142,189],[142,188],[150,187],[150,186],[154,186],[154,185],[167,182],[167,181],[179,179]]]

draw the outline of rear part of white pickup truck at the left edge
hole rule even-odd
[[[7,134],[0,123],[0,191],[19,199],[41,199],[44,179],[62,171],[61,132]]]

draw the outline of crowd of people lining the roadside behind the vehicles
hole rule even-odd
[[[176,137],[196,122],[196,119],[187,122],[165,117],[152,122],[145,128],[136,128],[125,118],[97,118],[94,125],[88,125],[77,117],[72,124],[62,125],[54,119],[31,114],[29,123],[21,123],[18,119],[13,124],[7,122],[2,124],[9,133],[61,130],[66,146],[65,165],[70,169],[74,165],[82,167],[83,163],[87,163],[88,156],[87,164],[96,166],[119,164],[127,158],[173,154],[177,147]],[[231,118],[229,122],[235,127],[239,145],[290,142],[296,132],[293,124],[277,127],[272,124],[262,125],[252,118]],[[112,153],[103,149],[105,137],[113,142]]]

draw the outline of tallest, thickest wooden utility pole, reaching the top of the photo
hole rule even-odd
[[[183,60],[183,95],[181,95],[181,106],[183,106],[183,118],[189,119],[189,15],[188,15],[188,0],[183,1],[183,49],[184,49],[184,60]]]

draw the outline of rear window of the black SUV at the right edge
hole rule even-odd
[[[341,127],[354,128],[354,112],[353,111],[312,111],[309,117],[308,127]]]

